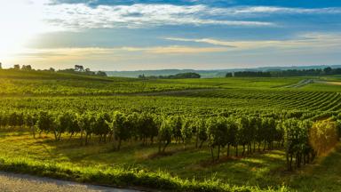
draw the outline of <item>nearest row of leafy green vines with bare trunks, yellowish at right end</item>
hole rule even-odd
[[[314,123],[295,117],[279,119],[250,115],[156,116],[118,111],[0,113],[0,128],[12,127],[28,127],[35,138],[42,133],[52,133],[56,141],[61,140],[63,134],[69,138],[79,135],[82,145],[88,145],[95,136],[99,143],[111,142],[116,150],[120,150],[123,141],[129,140],[143,145],[157,143],[159,153],[164,153],[171,143],[181,144],[184,148],[190,144],[202,148],[206,143],[213,161],[220,158],[223,148],[226,156],[247,156],[285,148],[288,170],[292,170],[293,165],[309,164],[315,156],[334,147],[339,139],[341,122],[334,119]]]

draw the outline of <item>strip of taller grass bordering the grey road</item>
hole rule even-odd
[[[63,180],[75,180],[118,188],[153,188],[169,191],[265,191],[260,188],[237,187],[219,180],[182,180],[164,172],[145,172],[137,169],[75,167],[71,164],[50,164],[22,158],[0,157],[0,169]],[[147,189],[148,190],[148,189]],[[150,190],[150,189],[149,189]],[[287,191],[287,188],[269,188],[266,191]]]

